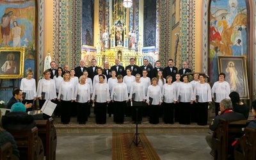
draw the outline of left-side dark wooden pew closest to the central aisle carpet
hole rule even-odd
[[[46,160],[56,159],[57,148],[57,134],[53,125],[53,118],[48,120],[35,120],[36,127],[38,128],[38,136],[44,144],[44,155]]]

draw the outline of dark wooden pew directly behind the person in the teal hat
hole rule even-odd
[[[38,136],[37,127],[31,130],[8,130],[16,141],[20,152],[20,159],[43,160],[44,145]]]

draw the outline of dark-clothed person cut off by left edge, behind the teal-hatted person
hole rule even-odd
[[[0,111],[0,146],[4,145],[7,142],[10,142],[12,144],[13,154],[19,157],[19,150],[12,134],[10,134],[10,132],[5,131],[2,127],[2,114]]]

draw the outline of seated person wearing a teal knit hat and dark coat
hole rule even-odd
[[[32,129],[36,127],[33,116],[26,113],[26,108],[21,102],[12,105],[10,113],[2,117],[3,128],[10,129]]]

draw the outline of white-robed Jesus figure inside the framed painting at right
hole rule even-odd
[[[226,72],[227,82],[230,84],[230,90],[239,92],[238,90],[239,88],[241,89],[243,78],[237,74],[234,62],[228,62]]]

